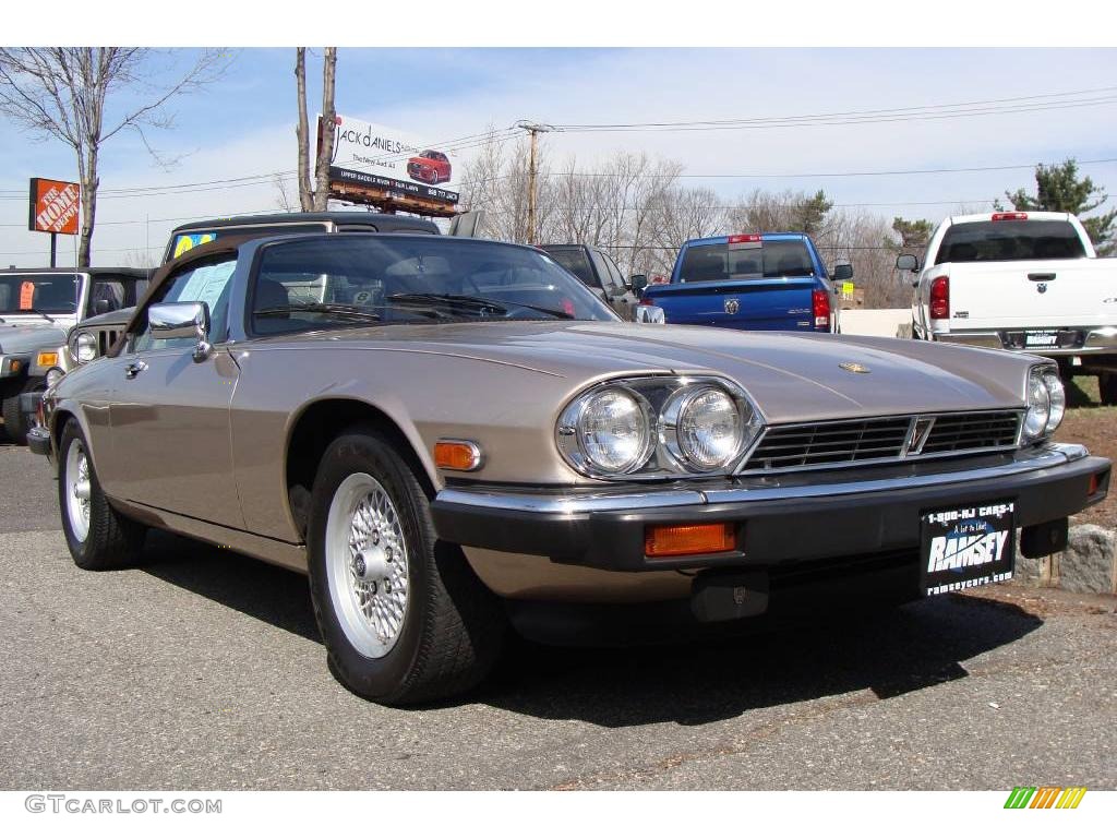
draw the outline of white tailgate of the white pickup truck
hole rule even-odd
[[[947,267],[952,331],[1108,326],[1117,320],[1113,302],[1117,259],[972,261]]]

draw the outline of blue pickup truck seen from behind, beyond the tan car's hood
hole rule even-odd
[[[668,323],[789,332],[839,332],[831,284],[853,276],[848,263],[831,277],[810,236],[744,234],[682,245],[670,285],[649,285],[641,305]]]

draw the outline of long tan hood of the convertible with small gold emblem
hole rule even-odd
[[[295,339],[327,340],[526,368],[571,379],[571,389],[614,375],[724,375],[768,422],[1022,407],[1028,368],[1041,360],[887,337],[628,323],[401,325]]]

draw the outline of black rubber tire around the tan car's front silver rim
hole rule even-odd
[[[343,628],[345,621],[354,630],[353,616],[338,615],[327,571],[327,562],[334,562],[333,593],[359,596],[341,583],[336,570],[345,562],[349,578],[349,550],[343,556],[327,555],[331,507],[336,496],[338,520],[352,518],[352,513],[342,512],[343,484],[355,475],[367,475],[383,488],[398,515],[405,552],[402,623],[394,645],[379,657],[361,651]],[[336,543],[336,533],[334,539]],[[431,702],[469,689],[495,665],[506,632],[499,599],[477,579],[460,547],[437,540],[427,493],[391,440],[376,429],[350,429],[323,455],[311,493],[307,547],[311,599],[330,669],[353,693],[388,705]]]

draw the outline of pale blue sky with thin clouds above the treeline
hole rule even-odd
[[[188,54],[178,56],[187,60]],[[207,92],[179,99],[173,130],[152,145],[181,156],[153,164],[139,140],[103,151],[112,189],[235,178],[295,165],[293,48],[237,50]],[[317,72],[312,61],[311,78]],[[1052,72],[1058,68],[1058,72]],[[503,128],[518,118],[552,123],[723,120],[1009,98],[1117,86],[1113,49],[359,49],[338,59],[340,113],[436,140]],[[317,92],[311,93],[312,113]],[[74,177],[71,153],[37,142],[0,116],[0,264],[32,265],[47,237],[26,230],[29,177]],[[681,162],[690,174],[825,173],[999,166],[1117,158],[1117,105],[942,121],[725,132],[554,133],[554,161],[592,165],[615,150]],[[1117,164],[1083,166],[1117,193]],[[688,183],[701,182],[691,179]],[[1033,187],[1029,170],[858,178],[709,180],[727,200],[754,187],[824,189],[839,203],[937,220],[957,202],[990,201]],[[294,194],[294,190],[290,190]],[[271,183],[178,196],[102,200],[95,261],[160,249],[183,217],[267,211]],[[936,204],[920,202],[939,201]],[[1111,201],[1109,206],[1113,206]]]

